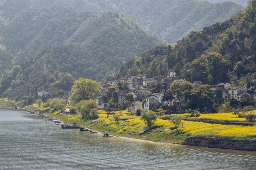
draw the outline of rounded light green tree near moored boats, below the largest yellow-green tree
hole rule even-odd
[[[76,104],[78,111],[82,114],[83,118],[90,117],[90,110],[97,108],[97,104],[94,100],[81,100]]]

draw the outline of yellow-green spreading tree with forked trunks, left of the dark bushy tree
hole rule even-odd
[[[174,81],[172,82],[170,88],[168,89],[168,93],[172,93],[172,95],[174,95],[177,98],[181,106],[183,100],[186,100],[187,102],[192,89],[193,86],[191,82],[184,81],[179,83],[177,81]]]

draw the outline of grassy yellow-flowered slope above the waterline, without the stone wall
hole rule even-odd
[[[41,107],[39,109],[43,108]],[[256,140],[256,125],[221,125],[197,121],[182,121],[183,127],[179,128],[180,133],[177,135],[176,130],[169,120],[158,118],[155,125],[148,130],[144,122],[140,120],[140,117],[127,115],[127,111],[122,111],[124,115],[120,117],[119,125],[115,123],[113,117],[110,116],[107,118],[105,113],[105,111],[100,111],[99,118],[97,119],[100,120],[100,123],[92,125],[90,127],[91,129],[108,132],[116,136],[132,137],[163,143],[182,143],[184,139],[192,136]],[[66,115],[59,113],[59,111],[48,111],[46,114],[68,124],[77,122],[80,126],[86,126],[91,122],[90,119],[82,119],[80,115]],[[188,116],[188,114],[183,115]],[[204,114],[201,114],[201,116],[203,115]],[[204,116],[206,116],[206,114]],[[228,119],[228,116],[232,117],[233,115],[232,113],[216,113],[209,115],[209,117],[214,117],[213,119],[224,120]]]

